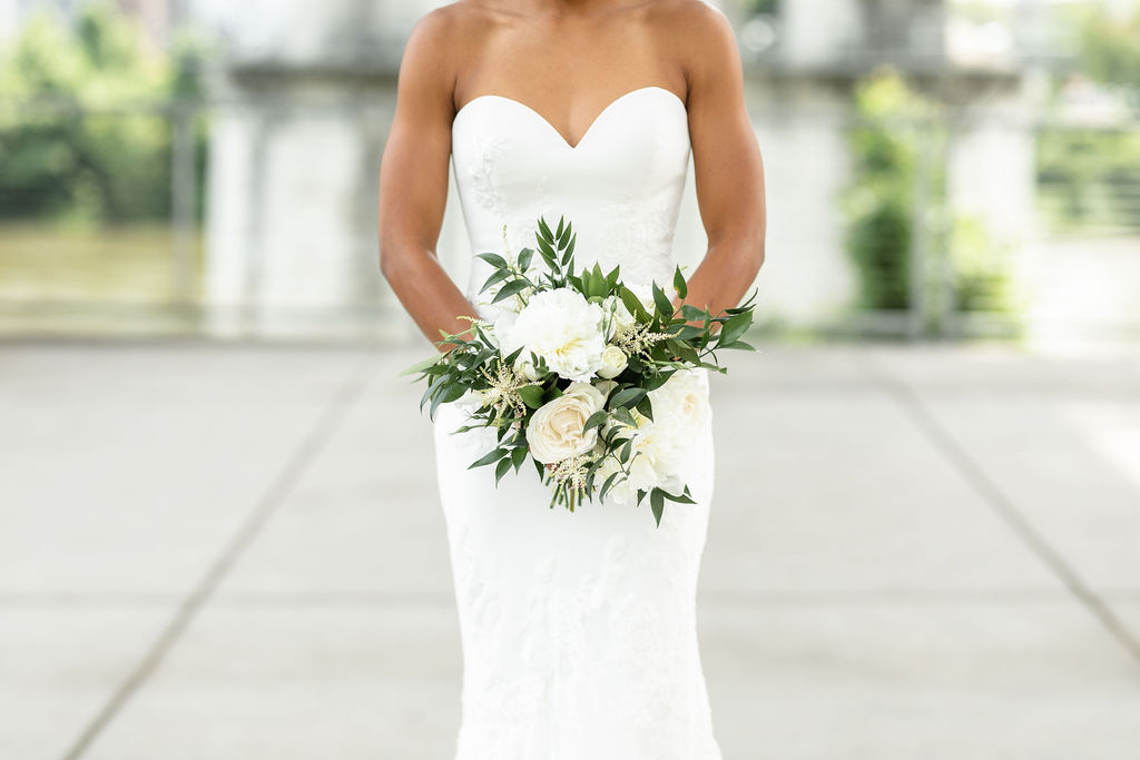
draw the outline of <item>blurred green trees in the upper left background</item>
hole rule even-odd
[[[74,27],[40,11],[0,50],[0,219],[169,216],[170,101],[201,95],[203,55],[187,35],[171,55],[149,49],[107,2]],[[204,120],[194,131],[201,175]]]

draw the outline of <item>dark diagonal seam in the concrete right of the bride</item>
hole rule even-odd
[[[1140,661],[1140,639],[1132,635],[1132,631],[1121,622],[1119,618],[1105,604],[1105,602],[1092,590],[1092,587],[1081,578],[1080,573],[1069,565],[1065,557],[1058,551],[1033,522],[1018,509],[1012,498],[997,485],[971,457],[964,447],[950,433],[942,423],[938,422],[934,412],[923,403],[914,389],[904,382],[895,378],[885,368],[865,354],[855,354],[855,363],[868,377],[877,382],[887,394],[895,400],[903,409],[904,414],[911,418],[914,425],[926,435],[935,449],[945,457],[951,465],[958,469],[959,474],[967,483],[982,497],[990,507],[1005,522],[1026,546],[1034,551],[1045,566],[1056,574],[1076,599],[1096,616],[1108,629],[1127,652]]]

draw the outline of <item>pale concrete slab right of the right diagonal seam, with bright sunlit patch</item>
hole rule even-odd
[[[1090,586],[1140,589],[1140,361],[866,356]]]

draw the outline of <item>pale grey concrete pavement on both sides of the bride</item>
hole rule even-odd
[[[726,760],[1140,757],[1140,359],[714,379]],[[448,760],[422,348],[0,346],[0,758]]]

